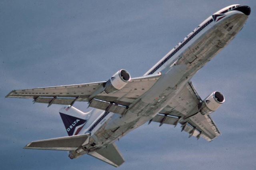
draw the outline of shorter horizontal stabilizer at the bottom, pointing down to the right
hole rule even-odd
[[[100,150],[88,154],[115,167],[124,163],[124,158],[120,154],[115,143],[109,144],[106,148],[101,148]]]

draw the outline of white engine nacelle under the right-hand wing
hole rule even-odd
[[[215,91],[210,94],[206,99],[202,102],[200,107],[200,112],[202,115],[209,115],[212,112],[216,111],[222,103],[224,103],[225,97],[219,91]]]

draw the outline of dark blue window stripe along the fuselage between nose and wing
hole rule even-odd
[[[164,61],[162,61],[160,64],[158,64],[152,71],[150,71],[150,73],[148,73],[148,75],[153,74],[157,69],[159,69],[162,65],[164,65],[164,63],[166,63],[168,61],[168,59],[170,59],[174,54],[176,54],[184,45],[186,45],[186,43],[188,43],[194,36],[196,36],[196,34],[198,34],[200,31],[202,31],[211,22],[213,22],[213,19],[210,19],[208,22],[206,22],[204,25],[202,25],[200,28],[198,28],[198,30],[196,30],[196,32],[194,32],[194,34],[192,34],[189,38],[186,39],[186,41],[184,41],[178,47],[176,47],[176,49],[172,53],[170,53],[170,55],[168,55],[168,57],[166,57],[164,59]]]

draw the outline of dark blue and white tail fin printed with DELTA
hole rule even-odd
[[[88,113],[84,113],[72,106],[62,107],[59,113],[68,132],[68,136],[77,135],[89,117]]]

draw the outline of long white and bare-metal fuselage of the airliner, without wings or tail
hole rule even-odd
[[[236,10],[223,16],[210,16],[204,20],[146,72],[145,75],[160,72],[161,76],[150,90],[129,106],[124,115],[93,109],[90,119],[79,133],[91,132],[90,143],[80,154],[98,150],[118,140],[166,107],[192,76],[236,36],[248,18]]]

